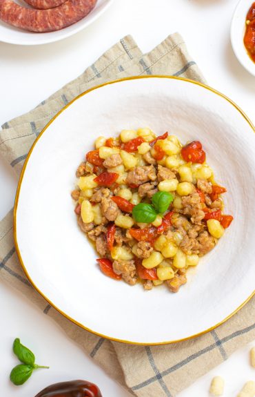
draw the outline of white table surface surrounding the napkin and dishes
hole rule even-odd
[[[236,0],[115,0],[92,26],[63,41],[33,47],[0,42],[0,124],[37,106],[81,74],[121,37],[132,34],[147,52],[175,31],[183,35],[208,84],[236,101],[255,123],[255,79],[238,64],[230,44],[230,22],[236,3]],[[0,158],[0,218],[12,208],[16,186],[12,168]],[[75,378],[96,383],[104,397],[131,396],[26,298],[0,284],[0,299],[1,396],[33,397],[51,383]],[[22,387],[14,387],[8,380],[10,369],[16,365],[11,351],[16,337],[34,350],[39,364],[50,365],[49,370],[34,373]],[[210,380],[216,374],[225,378],[224,396],[236,396],[246,380],[255,380],[255,370],[249,365],[252,345],[237,351],[179,396],[208,396]]]

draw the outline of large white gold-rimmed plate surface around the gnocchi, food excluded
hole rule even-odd
[[[105,277],[76,224],[70,191],[99,135],[150,126],[182,142],[199,139],[216,180],[227,187],[234,222],[179,293],[144,291]],[[106,338],[139,344],[192,338],[235,313],[254,292],[255,135],[243,112],[194,81],[146,76],[83,93],[54,117],[23,167],[14,237],[26,275],[52,306]]]

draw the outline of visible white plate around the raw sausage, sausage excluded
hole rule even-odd
[[[98,0],[96,2],[96,6],[90,14],[87,15],[87,17],[84,17],[81,21],[68,26],[68,28],[56,30],[56,32],[27,32],[26,30],[21,30],[8,25],[8,23],[5,23],[0,19],[0,41],[10,44],[19,44],[21,46],[37,46],[39,44],[53,43],[54,41],[65,39],[65,37],[70,37],[75,33],[80,32],[89,26],[90,23],[98,19],[100,15],[108,9],[112,2],[113,0]],[[17,1],[17,3],[19,3],[19,1]],[[22,3],[19,4],[23,6]]]

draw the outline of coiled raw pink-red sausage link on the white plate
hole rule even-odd
[[[32,32],[53,32],[83,19],[94,8],[96,1],[67,0],[50,10],[31,10],[12,0],[0,0],[0,19]]]

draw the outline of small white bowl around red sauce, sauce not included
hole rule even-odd
[[[252,6],[253,0],[241,0],[239,1],[236,10],[232,18],[231,25],[231,43],[234,53],[238,61],[243,67],[255,76],[255,64],[249,57],[249,54],[243,43],[243,38],[246,29],[246,17],[249,8]]]

